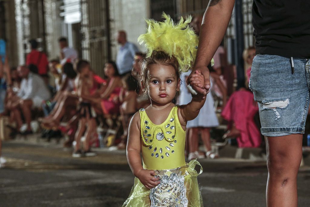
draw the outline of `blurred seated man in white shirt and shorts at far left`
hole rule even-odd
[[[20,84],[20,91],[17,94],[19,101],[15,103],[15,106],[13,106],[13,113],[15,115],[19,131],[23,124],[19,109],[22,110],[27,124],[27,129],[24,134],[29,134],[32,133],[30,126],[31,108],[40,107],[42,101],[51,98],[51,95],[43,79],[37,74],[31,73],[27,66],[21,65],[17,68],[17,71],[22,78],[22,81]]]

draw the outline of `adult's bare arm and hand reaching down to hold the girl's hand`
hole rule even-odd
[[[235,0],[210,0],[203,15],[197,56],[193,71],[189,76],[190,79],[196,70],[203,74],[205,78],[204,87],[193,86],[193,89],[198,93],[206,94],[209,92],[210,72],[207,65],[224,37],[234,3]]]

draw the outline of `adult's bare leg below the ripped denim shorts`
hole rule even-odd
[[[301,134],[265,137],[268,181],[268,207],[297,207],[297,173],[302,157]]]

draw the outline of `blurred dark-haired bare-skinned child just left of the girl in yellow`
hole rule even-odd
[[[120,113],[122,116],[122,125],[124,133],[121,137],[122,141],[118,144],[118,149],[126,149],[129,122],[137,111],[137,93],[135,92],[137,84],[131,75],[122,78],[123,88],[120,92],[119,100],[122,103]]]

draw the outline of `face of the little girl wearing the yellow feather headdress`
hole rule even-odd
[[[175,69],[170,65],[154,64],[147,75],[149,81],[146,87],[150,99],[158,104],[170,103],[180,88]]]

